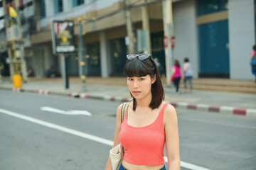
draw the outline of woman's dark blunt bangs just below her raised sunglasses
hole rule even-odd
[[[145,77],[147,74],[154,75],[154,64],[150,60],[127,60],[124,66],[124,75],[126,77]]]

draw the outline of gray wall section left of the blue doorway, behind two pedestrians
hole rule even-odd
[[[198,32],[196,25],[196,2],[179,1],[173,6],[174,35],[176,45],[174,59],[183,64],[184,57],[188,57],[193,66],[193,77],[198,77],[199,53]]]

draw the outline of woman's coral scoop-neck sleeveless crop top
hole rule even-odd
[[[165,103],[154,123],[133,127],[127,123],[127,114],[121,125],[119,140],[124,147],[124,161],[137,165],[164,164],[164,110]]]

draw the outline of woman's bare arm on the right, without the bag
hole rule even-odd
[[[181,169],[178,140],[178,118],[174,106],[167,106],[164,111],[164,130],[166,135],[166,153],[169,170]]]

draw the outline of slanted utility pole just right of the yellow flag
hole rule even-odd
[[[28,82],[28,76],[26,72],[26,61],[24,60],[24,41],[23,41],[23,35],[22,35],[22,30],[21,30],[21,13],[19,10],[19,0],[15,0],[15,6],[16,6],[16,11],[18,13],[17,16],[17,28],[18,28],[18,42],[19,42],[19,53],[20,53],[20,61],[21,61],[21,74],[23,81],[26,83]]]

